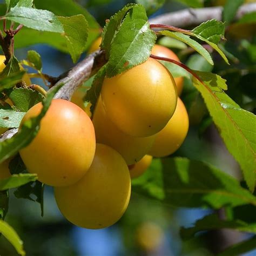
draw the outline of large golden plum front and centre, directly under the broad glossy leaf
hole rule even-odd
[[[149,58],[132,69],[105,78],[102,101],[112,122],[134,137],[151,136],[168,123],[177,104],[170,72]]]

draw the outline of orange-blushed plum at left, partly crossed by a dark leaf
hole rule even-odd
[[[41,109],[42,103],[32,106],[21,125]],[[38,174],[39,181],[68,186],[89,169],[95,147],[95,131],[87,114],[68,100],[53,99],[37,136],[19,153],[28,171]]]

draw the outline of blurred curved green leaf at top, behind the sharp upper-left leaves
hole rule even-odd
[[[89,11],[84,9],[81,5],[77,4],[73,0],[34,0],[34,3],[38,9],[44,9],[44,10],[49,10],[53,12],[53,14],[57,16],[73,16],[73,15],[78,15],[82,14],[88,25],[89,25],[89,33],[88,33],[88,38],[87,38],[87,43],[85,45],[85,50],[89,48],[91,43],[95,41],[95,39],[99,36],[100,33],[100,25],[97,23],[96,19],[90,14]],[[19,31],[19,33],[22,31]],[[50,35],[49,35],[50,36]],[[41,39],[44,39],[41,37]],[[46,41],[49,43],[50,37],[46,35]],[[15,38],[16,40],[16,38]],[[54,39],[52,39],[51,45],[56,44],[53,42]],[[16,42],[15,42],[16,43]]]

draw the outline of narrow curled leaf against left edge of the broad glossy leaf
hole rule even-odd
[[[109,22],[103,28],[102,32],[102,49],[106,52],[106,58],[109,59],[111,44],[116,32],[119,30],[120,25],[127,14],[132,9],[134,4],[127,4],[124,8],[110,17]]]

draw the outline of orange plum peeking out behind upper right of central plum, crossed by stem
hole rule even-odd
[[[155,44],[151,54],[159,56],[159,57],[165,57],[165,58],[170,58],[170,59],[174,59],[177,60],[178,62],[180,62],[180,59],[178,58],[178,56],[169,48],[159,45],[159,44]],[[176,83],[177,86],[177,94],[178,96],[181,95],[181,92],[183,90],[183,83],[184,83],[184,78],[183,77],[174,77],[174,81]]]

